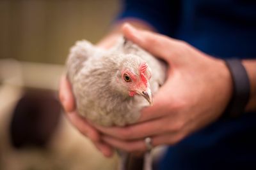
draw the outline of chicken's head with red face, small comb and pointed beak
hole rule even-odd
[[[118,82],[122,86],[122,91],[130,97],[134,95],[143,96],[149,104],[152,104],[152,93],[149,80],[151,70],[144,61],[134,59],[126,60],[119,72]]]

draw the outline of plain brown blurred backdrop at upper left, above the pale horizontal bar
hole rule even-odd
[[[77,39],[97,42],[118,0],[0,1],[0,58],[63,64]]]

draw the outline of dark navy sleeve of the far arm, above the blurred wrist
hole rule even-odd
[[[178,0],[122,0],[122,11],[117,20],[143,20],[159,33],[172,36],[178,24],[179,6]]]

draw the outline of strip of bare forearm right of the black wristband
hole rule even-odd
[[[243,65],[250,80],[250,100],[246,111],[256,111],[256,59],[243,60]]]

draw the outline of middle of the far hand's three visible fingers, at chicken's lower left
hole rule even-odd
[[[83,135],[88,136],[94,142],[100,141],[99,132],[86,119],[80,117],[76,111],[68,113],[67,117]]]

